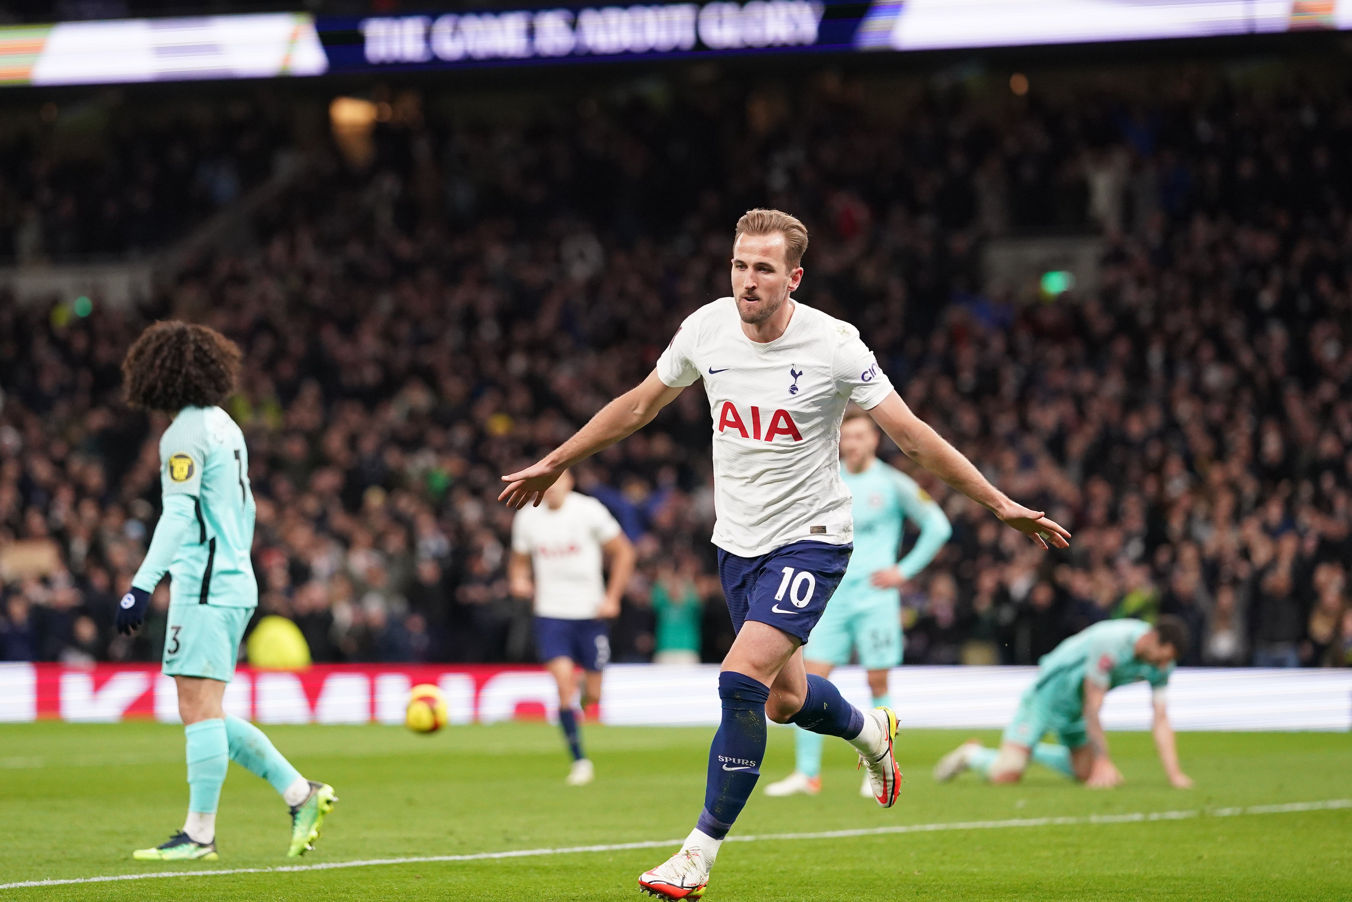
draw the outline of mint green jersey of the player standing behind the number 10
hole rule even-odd
[[[873,572],[896,564],[902,544],[902,523],[915,521],[921,536],[900,561],[902,576],[911,579],[934,560],[953,527],[944,510],[915,480],[875,460],[860,473],[841,464],[841,479],[853,496],[854,552],[842,584],[867,581]]]

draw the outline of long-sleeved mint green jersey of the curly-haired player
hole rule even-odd
[[[254,499],[249,448],[219,407],[184,407],[160,438],[164,514],[132,586],[169,572],[170,604],[254,607]]]

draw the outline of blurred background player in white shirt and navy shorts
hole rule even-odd
[[[594,768],[583,755],[573,707],[600,701],[600,672],[610,661],[608,618],[619,614],[619,599],[634,573],[634,546],[619,523],[595,498],[573,490],[562,473],[545,491],[545,503],[516,514],[511,525],[511,592],[535,600],[535,648],[558,683],[558,726],[568,740],[573,767],[571,786],[591,783]],[[610,584],[602,573],[602,553],[610,559]],[[534,571],[534,580],[531,579]],[[583,694],[577,699],[577,668]]]

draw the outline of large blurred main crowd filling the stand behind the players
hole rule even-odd
[[[1349,665],[1352,93],[1175,74],[1025,97],[673,80],[525,112],[387,96],[365,150],[316,151],[250,249],[143,308],[0,304],[0,657],[157,659],[164,586],[139,636],[110,629],[165,426],[120,404],[118,364],[185,316],[245,354],[228,408],[260,617],[315,661],[530,660],[500,473],[727,293],[731,226],[763,204],[813,231],[798,298],[854,322],[925,419],[1075,533],[1038,552],[884,448],[955,526],[902,590],[907,663],[1036,663],[1095,621],[1174,613],[1186,664]],[[983,293],[987,242],[1067,231],[1105,237],[1091,291]],[[696,384],[579,469],[639,552],[614,660],[731,641],[708,433]]]

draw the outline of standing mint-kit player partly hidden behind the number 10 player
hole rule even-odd
[[[854,553],[831,603],[813,627],[813,638],[803,646],[803,667],[825,679],[833,668],[849,664],[850,652],[856,652],[868,672],[873,707],[891,707],[887,675],[902,663],[898,590],[934,560],[953,527],[914,479],[877,460],[877,426],[852,404],[841,423],[841,479],[853,496]],[[921,534],[898,561],[902,523],[907,517],[919,525]],[[765,794],[815,795],[821,791],[822,741],[821,733],[794,730],[794,772],[767,786]],[[868,775],[860,794],[873,795]]]

